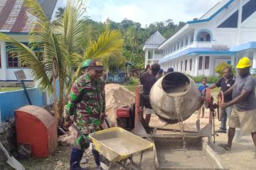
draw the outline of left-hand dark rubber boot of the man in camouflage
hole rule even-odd
[[[73,147],[70,156],[70,170],[88,170],[80,166],[83,152],[83,150]]]

